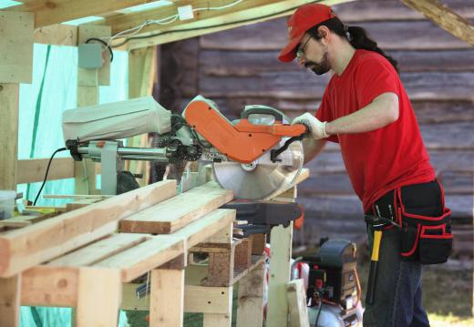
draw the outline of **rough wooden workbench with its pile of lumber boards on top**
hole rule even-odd
[[[307,171],[301,180],[306,177]],[[151,326],[180,326],[183,312],[203,312],[204,326],[230,326],[232,287],[239,282],[237,325],[262,326],[266,238],[232,237],[235,210],[219,209],[230,200],[232,191],[214,182],[177,195],[176,182],[167,180],[111,198],[80,199],[55,217],[4,220],[0,301],[75,307],[77,326],[117,326],[119,309],[149,310]],[[273,230],[286,235],[274,235],[286,253],[282,260],[274,245],[270,282],[276,291],[270,292],[277,296],[289,281],[292,230]],[[207,262],[192,261],[195,253],[207,253]],[[139,277],[150,285],[142,299],[135,295]],[[287,312],[279,301],[271,310]]]

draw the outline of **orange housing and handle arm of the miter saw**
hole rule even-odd
[[[241,163],[252,163],[283,137],[298,137],[306,132],[302,124],[288,125],[281,120],[275,120],[273,125],[252,125],[247,118],[241,118],[232,125],[218,110],[201,100],[189,104],[184,118],[214,148]]]

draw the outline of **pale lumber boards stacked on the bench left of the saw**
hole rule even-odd
[[[232,191],[215,182],[177,195],[176,181],[166,180],[7,230],[0,233],[0,282],[21,276],[16,291],[23,305],[77,307],[77,325],[117,325],[122,283],[149,271],[151,281],[160,280],[161,291],[166,289],[163,278],[171,285],[172,278],[184,281],[191,248],[201,242],[208,248],[223,243],[210,239],[222,230],[228,231],[231,245],[217,256],[233,257],[243,244],[248,248],[247,241],[232,244],[235,210],[218,209],[230,200]],[[252,263],[258,262],[249,261],[246,268]],[[7,298],[2,292],[0,298]],[[182,296],[182,290],[177,294]],[[170,318],[163,303],[160,308],[151,313],[155,321],[182,316],[181,310]]]

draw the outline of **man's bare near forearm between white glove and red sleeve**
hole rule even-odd
[[[356,112],[326,123],[329,135],[364,133],[393,123],[398,118],[398,97],[386,93]]]

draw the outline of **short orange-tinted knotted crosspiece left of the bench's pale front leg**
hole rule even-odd
[[[77,268],[36,266],[22,275],[22,305],[77,306]]]

